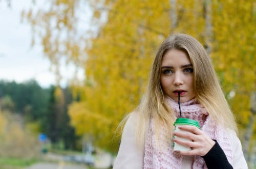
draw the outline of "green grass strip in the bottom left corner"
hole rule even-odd
[[[36,159],[8,158],[0,157],[0,166],[3,168],[22,168],[36,163]]]

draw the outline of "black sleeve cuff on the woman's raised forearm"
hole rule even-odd
[[[214,140],[216,143],[214,147],[210,149],[210,151],[202,156],[204,158],[204,161],[208,167],[208,169],[229,169],[233,168],[230,163],[227,160],[227,157],[224,153],[224,151],[221,149],[220,145],[216,140]]]

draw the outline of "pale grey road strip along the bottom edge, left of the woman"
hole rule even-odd
[[[51,162],[39,162],[26,169],[87,169],[86,165],[82,164],[69,164],[65,161],[56,163]]]

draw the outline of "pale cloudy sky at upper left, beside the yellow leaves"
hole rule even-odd
[[[55,75],[50,71],[50,61],[42,53],[39,44],[31,46],[29,23],[22,23],[20,12],[29,8],[31,0],[12,0],[11,8],[6,1],[0,1],[0,80],[18,83],[35,79],[43,88],[55,85]],[[60,67],[65,87],[75,69],[73,65],[62,64]],[[82,71],[79,76],[82,79]]]

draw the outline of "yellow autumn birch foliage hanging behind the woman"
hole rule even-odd
[[[69,108],[79,134],[92,133],[96,144],[116,151],[118,143],[110,142],[113,132],[139,103],[157,47],[173,32],[190,34],[205,45],[239,126],[246,128],[256,72],[252,0],[88,3],[93,10],[91,25],[97,30],[88,32],[90,39],[75,34],[78,11],[84,7],[79,1],[58,0],[46,11],[24,12],[53,64],[62,54],[82,63],[86,80],[74,84],[80,100]],[[68,38],[59,36],[62,30]]]

